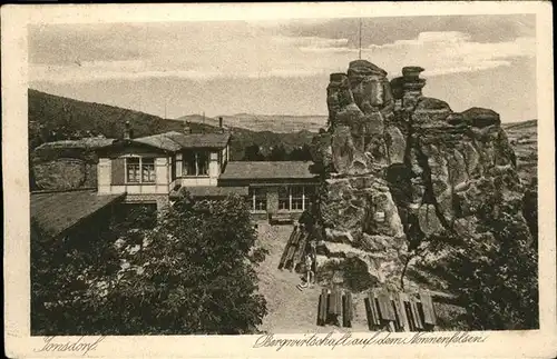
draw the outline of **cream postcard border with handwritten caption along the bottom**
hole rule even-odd
[[[289,4],[96,4],[4,6],[2,23],[2,160],[4,196],[4,341],[10,357],[76,357],[40,351],[45,338],[29,337],[29,183],[27,151],[27,31],[37,22],[141,22],[233,19],[341,18],[419,14],[536,13],[538,91],[540,330],[489,331],[473,345],[253,348],[258,336],[106,337],[87,357],[554,357],[556,247],[553,27],[549,2],[289,3]],[[304,333],[277,338],[303,338]],[[371,332],[358,333],[370,336]],[[404,333],[397,333],[404,336]],[[339,337],[340,335],[336,335]],[[356,333],[354,333],[356,336]],[[411,333],[408,333],[411,337]],[[98,337],[87,338],[88,342]],[[79,337],[59,337],[77,340]],[[63,341],[62,340],[62,341]]]

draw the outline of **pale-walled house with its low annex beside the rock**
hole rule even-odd
[[[221,122],[222,123],[222,122]],[[254,219],[296,218],[311,202],[317,178],[311,162],[229,161],[231,133],[170,131],[124,139],[97,150],[98,193],[125,195],[125,203],[162,208],[180,193],[246,198]]]

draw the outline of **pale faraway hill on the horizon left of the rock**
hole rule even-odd
[[[299,131],[317,132],[320,128],[326,126],[328,120],[326,116],[319,114],[289,116],[252,113],[222,114],[215,118],[204,118],[201,114],[188,114],[177,120],[218,126],[218,117],[222,117],[224,123],[231,127],[248,129],[251,131],[271,131],[275,133],[292,133]]]

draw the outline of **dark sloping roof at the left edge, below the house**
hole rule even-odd
[[[31,219],[50,237],[58,237],[125,195],[97,195],[94,189],[31,193]]]

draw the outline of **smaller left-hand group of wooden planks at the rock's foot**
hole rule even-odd
[[[319,297],[317,326],[352,327],[352,293],[339,288],[323,288]]]

